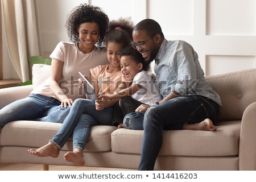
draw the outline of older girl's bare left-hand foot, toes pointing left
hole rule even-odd
[[[57,156],[59,156],[60,150],[55,143],[49,142],[43,147],[40,147],[38,149],[29,149],[27,150],[27,152],[40,157],[51,156],[53,158],[57,158]]]

